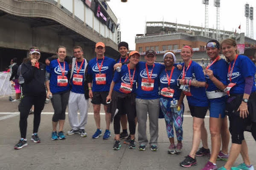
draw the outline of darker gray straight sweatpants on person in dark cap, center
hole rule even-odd
[[[150,146],[157,145],[159,99],[136,99],[139,144],[147,145],[147,118],[149,118]]]

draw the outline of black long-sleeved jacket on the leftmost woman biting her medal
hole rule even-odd
[[[21,66],[21,74],[24,77],[24,96],[46,95],[45,90],[45,65],[39,62],[39,69],[32,66],[31,62]]]

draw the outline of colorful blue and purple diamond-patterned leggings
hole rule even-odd
[[[160,108],[163,112],[164,119],[166,121],[166,131],[169,138],[174,137],[174,130],[172,124],[174,124],[177,140],[181,141],[183,139],[183,129],[182,129],[182,123],[183,123],[183,113],[184,113],[184,104],[182,103],[180,107],[180,111],[177,111],[177,113],[172,113],[172,110],[170,108],[170,102],[172,99],[164,99],[160,98]]]

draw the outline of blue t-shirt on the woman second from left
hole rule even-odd
[[[68,79],[68,71],[69,71],[69,66],[66,61],[65,62],[65,73],[64,75]],[[64,62],[60,62],[61,68],[64,69]],[[50,73],[50,91],[52,94],[60,93],[63,91],[69,91],[70,90],[70,84],[69,82],[67,83],[67,86],[58,86],[57,85],[57,77],[62,76],[61,73],[61,68],[59,67],[57,59],[54,59],[50,62],[50,65],[46,67],[46,71]]]

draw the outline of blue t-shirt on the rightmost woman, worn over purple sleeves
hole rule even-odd
[[[230,66],[230,71],[235,60],[233,60]],[[232,72],[232,82],[236,85],[230,89],[230,94],[243,94],[244,85],[246,77],[254,77],[256,72],[256,67],[253,62],[246,56],[239,55],[236,59],[236,63]],[[228,73],[229,74],[229,73]],[[229,75],[227,74],[228,83],[230,83]],[[256,91],[255,79],[253,79],[252,92]]]

